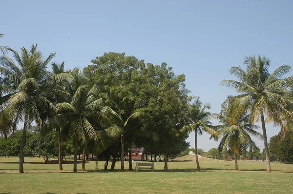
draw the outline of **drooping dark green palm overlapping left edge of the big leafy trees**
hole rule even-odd
[[[66,91],[70,94],[67,102],[57,104],[58,115],[50,120],[50,127],[58,129],[66,124],[70,125],[71,133],[75,136],[74,167],[73,172],[77,172],[77,149],[79,139],[83,144],[87,138],[96,141],[103,139],[103,134],[98,130],[102,129],[106,117],[100,111],[103,101],[99,98],[99,88],[97,85],[90,86],[88,78],[84,76],[80,69],[75,68],[71,72],[71,79]],[[85,147],[84,147],[85,149]],[[83,161],[83,170],[84,161]]]

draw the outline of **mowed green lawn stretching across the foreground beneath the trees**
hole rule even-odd
[[[25,157],[24,174],[18,174],[18,157],[0,158],[0,194],[115,194],[115,193],[292,193],[293,165],[272,163],[272,174],[266,173],[262,161],[239,161],[240,171],[234,171],[234,161],[202,161],[202,171],[195,170],[194,161],[155,163],[155,172],[104,171],[104,162],[87,161],[87,172],[71,173],[73,164],[44,164],[42,158]],[[56,158],[53,160],[56,160]],[[72,162],[72,160],[69,160]],[[128,167],[128,163],[126,163]],[[110,162],[109,162],[110,165]],[[135,162],[133,163],[133,168]],[[110,166],[108,166],[108,169]]]

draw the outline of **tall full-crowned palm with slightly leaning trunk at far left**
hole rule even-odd
[[[26,131],[35,121],[42,128],[48,114],[55,111],[56,107],[48,99],[58,89],[51,88],[52,83],[62,80],[63,75],[52,76],[47,71],[47,64],[55,53],[48,58],[43,58],[38,51],[37,44],[30,50],[21,48],[21,56],[16,50],[9,49],[13,53],[18,65],[9,56],[0,57],[1,89],[5,96],[1,97],[1,104],[5,109],[1,116],[14,123],[24,120],[22,139],[20,145],[20,173],[23,173],[23,148],[26,139]]]

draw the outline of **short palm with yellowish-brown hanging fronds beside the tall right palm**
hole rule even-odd
[[[234,153],[235,170],[238,170],[237,157],[240,150],[246,150],[248,147],[255,149],[255,142],[251,136],[256,136],[262,139],[262,135],[254,129],[259,127],[251,124],[250,116],[245,113],[230,113],[228,111],[229,101],[222,104],[222,110],[217,117],[220,119],[221,125],[215,126],[218,129],[220,136],[222,136],[219,150],[226,151],[227,148]],[[235,115],[238,115],[237,117]]]

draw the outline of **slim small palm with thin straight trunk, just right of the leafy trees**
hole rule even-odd
[[[188,110],[188,119],[189,124],[185,125],[180,131],[184,133],[195,132],[194,139],[194,150],[196,157],[196,166],[197,170],[201,170],[198,162],[197,156],[197,134],[202,135],[203,131],[209,133],[212,137],[217,137],[218,133],[212,128],[210,120],[212,115],[208,110],[210,110],[210,105],[204,104],[199,100],[199,97],[196,97],[194,102],[189,105]]]

